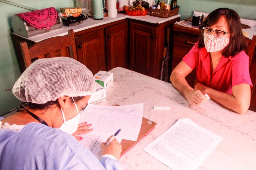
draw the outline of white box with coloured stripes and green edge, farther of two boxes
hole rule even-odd
[[[113,83],[113,73],[108,71],[99,71],[94,75],[94,80],[99,83],[105,89]]]

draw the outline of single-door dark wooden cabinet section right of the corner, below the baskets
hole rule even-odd
[[[160,78],[167,28],[171,27],[172,30],[173,23],[179,20],[175,18],[161,24],[129,20],[130,70]]]

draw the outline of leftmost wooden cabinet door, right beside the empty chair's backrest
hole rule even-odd
[[[75,37],[77,60],[83,63],[92,74],[106,71],[104,30],[96,30]]]

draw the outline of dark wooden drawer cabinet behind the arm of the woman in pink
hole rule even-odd
[[[196,44],[200,35],[199,30],[188,29],[182,26],[173,26],[173,55],[172,55],[172,70],[180,63],[182,58]],[[193,70],[186,80],[191,87],[194,87],[196,72]]]

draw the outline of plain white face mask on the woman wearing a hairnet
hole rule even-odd
[[[72,97],[72,100],[74,101],[73,97]],[[62,108],[60,107],[64,123],[60,126],[59,129],[64,131],[64,132],[67,132],[69,134],[74,133],[77,130],[77,127],[78,127],[78,124],[79,124],[80,114],[78,112],[75,101],[74,101],[74,104],[75,104],[75,107],[76,107],[77,115],[75,117],[73,117],[72,119],[69,119],[68,121],[65,121],[64,112],[63,112]]]

